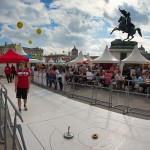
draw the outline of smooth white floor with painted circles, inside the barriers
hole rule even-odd
[[[17,105],[14,84],[3,80]],[[79,92],[79,91],[78,91]],[[10,107],[11,116],[14,111]],[[28,150],[149,150],[150,121],[90,106],[31,84],[28,111],[22,111]],[[74,134],[65,139],[63,134]],[[92,139],[97,134],[97,139]]]

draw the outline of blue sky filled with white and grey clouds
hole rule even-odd
[[[0,0],[0,45],[21,43],[41,47],[45,54],[67,54],[75,45],[83,54],[100,55],[111,41],[127,36],[119,31],[110,35],[118,26],[120,8],[142,30],[143,37],[136,33],[133,40],[150,52],[149,6],[149,0]],[[19,21],[22,29],[16,26]]]

